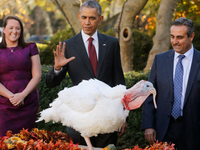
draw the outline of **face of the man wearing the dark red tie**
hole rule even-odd
[[[83,32],[89,36],[92,36],[95,33],[98,24],[103,20],[103,16],[97,14],[96,8],[82,7],[78,17]]]

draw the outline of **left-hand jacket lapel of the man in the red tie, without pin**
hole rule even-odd
[[[87,55],[81,33],[79,33],[74,40],[74,49],[76,50],[77,54],[79,55],[79,57],[85,64],[86,68],[89,70],[89,72],[92,74],[92,76],[94,76],[94,72],[93,72],[93,69],[92,69],[92,66],[90,63],[90,59]]]

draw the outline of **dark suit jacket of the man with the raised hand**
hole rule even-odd
[[[99,38],[99,59],[97,67],[97,79],[105,82],[111,87],[118,84],[125,84],[121,67],[120,47],[117,38],[98,33]],[[48,87],[55,87],[69,73],[73,85],[79,84],[82,80],[95,78],[89,57],[87,55],[81,33],[64,41],[66,43],[65,57],[75,56],[75,59],[63,67],[59,75],[54,74],[54,66],[46,75]]]

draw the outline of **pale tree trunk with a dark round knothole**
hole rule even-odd
[[[122,8],[116,24],[117,37],[121,49],[122,69],[124,72],[133,70],[133,38],[132,28],[136,15],[143,9],[148,0],[127,0]]]

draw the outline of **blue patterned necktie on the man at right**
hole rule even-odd
[[[183,85],[183,65],[182,59],[185,55],[179,55],[179,61],[176,64],[175,78],[174,78],[174,105],[172,109],[172,116],[177,119],[181,115],[181,95]]]

